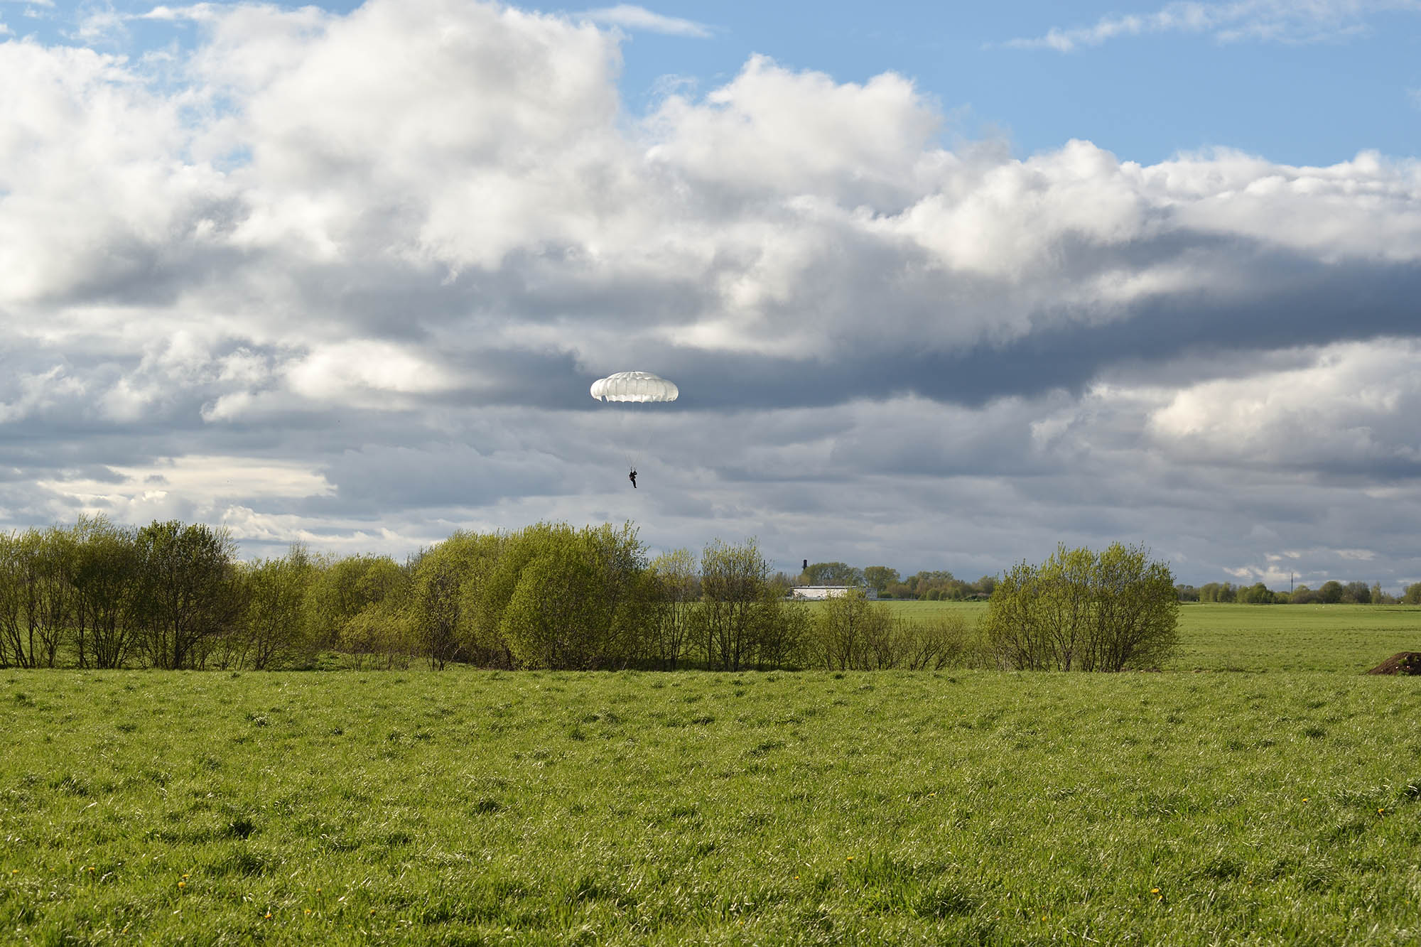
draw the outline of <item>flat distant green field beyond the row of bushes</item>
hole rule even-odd
[[[985,601],[890,601],[898,614],[922,619],[986,614]],[[1421,651],[1421,609],[1415,606],[1242,606],[1179,607],[1175,671],[1361,673],[1397,651]]]

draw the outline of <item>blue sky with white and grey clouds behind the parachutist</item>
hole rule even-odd
[[[1421,0],[837,6],[0,0],[0,523],[1421,579]]]

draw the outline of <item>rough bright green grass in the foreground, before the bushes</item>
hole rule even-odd
[[[0,671],[0,940],[1421,938],[1421,681]]]

